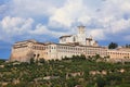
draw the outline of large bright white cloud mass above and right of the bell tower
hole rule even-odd
[[[128,0],[127,2],[123,2],[123,0],[109,0],[104,2],[96,12],[98,7],[95,11],[90,11],[90,5],[84,4],[83,0],[67,0],[62,8],[55,10],[50,17],[50,23],[63,27],[72,27],[77,22],[93,26],[92,29],[91,27],[87,28],[90,28],[90,34],[93,37],[101,40],[107,38],[107,34],[119,34],[129,29],[129,20],[123,20],[122,15],[129,9],[129,5],[126,4],[128,4]],[[128,7],[128,9],[126,10],[125,7]]]

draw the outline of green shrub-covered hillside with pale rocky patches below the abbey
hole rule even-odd
[[[30,63],[0,61],[0,87],[130,87],[130,63],[74,55]]]

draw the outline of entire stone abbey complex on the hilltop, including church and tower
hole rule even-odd
[[[65,57],[100,54],[102,58],[109,57],[112,60],[129,59],[130,50],[109,50],[99,46],[92,37],[86,36],[86,27],[78,26],[76,35],[65,35],[60,37],[60,42],[38,42],[36,40],[25,40],[15,42],[12,47],[10,61],[28,62],[30,58],[36,60],[61,60]]]

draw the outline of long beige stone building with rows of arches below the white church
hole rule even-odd
[[[23,47],[22,44],[26,42]],[[100,54],[101,57],[106,57],[107,50],[103,47],[91,47],[91,46],[76,46],[76,45],[65,45],[65,44],[40,44],[34,41],[23,41],[18,46],[14,45],[12,49],[12,61],[26,62],[30,58],[44,59],[44,60],[61,60],[65,57],[81,55],[92,57]]]

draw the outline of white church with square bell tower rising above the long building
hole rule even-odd
[[[66,35],[60,37],[60,44],[77,44],[82,46],[96,46],[98,42],[92,39],[92,37],[87,38],[86,36],[86,27],[78,26],[78,34],[77,35]]]

